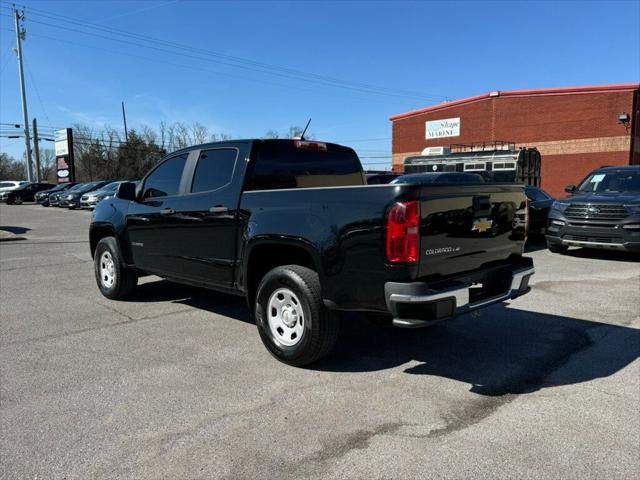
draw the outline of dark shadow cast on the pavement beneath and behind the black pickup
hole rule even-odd
[[[166,280],[140,285],[133,300],[173,301],[254,323],[241,297]],[[640,357],[638,329],[504,305],[416,330],[376,326],[350,313],[340,328],[334,351],[310,369],[372,372],[411,362],[405,373],[468,383],[471,392],[486,396],[608,377]],[[580,360],[560,369],[573,355]]]

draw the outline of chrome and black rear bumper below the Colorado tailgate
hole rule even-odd
[[[385,299],[393,324],[418,328],[436,321],[453,318],[488,305],[519,297],[529,290],[529,279],[535,273],[530,259],[511,269],[482,272],[478,283],[461,279],[444,289],[434,289],[423,282],[385,284]],[[483,289],[485,293],[483,293]]]

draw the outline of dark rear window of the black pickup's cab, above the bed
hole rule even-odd
[[[259,143],[245,190],[365,184],[360,161],[352,149],[328,143],[319,144],[321,148],[298,143],[300,146],[291,140]]]

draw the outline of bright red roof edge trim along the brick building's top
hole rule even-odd
[[[394,120],[402,120],[404,118],[419,115],[421,113],[435,112],[449,107],[455,107],[458,105],[466,105],[468,103],[477,102],[485,98],[491,97],[528,97],[535,95],[572,95],[572,94],[584,94],[584,93],[601,93],[601,92],[624,92],[640,89],[640,83],[617,83],[612,85],[593,85],[587,87],[557,87],[557,88],[542,88],[531,90],[495,90],[490,93],[482,95],[476,95],[474,97],[467,97],[461,100],[454,100],[453,102],[441,103],[440,105],[432,105],[431,107],[420,108],[418,110],[412,110],[405,113],[398,113],[389,117],[392,122]],[[497,94],[496,94],[497,92]]]

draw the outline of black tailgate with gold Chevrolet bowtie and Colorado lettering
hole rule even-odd
[[[521,254],[520,185],[423,186],[418,275],[449,275]],[[514,225],[515,224],[515,225]]]

